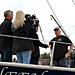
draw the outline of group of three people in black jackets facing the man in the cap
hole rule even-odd
[[[25,21],[23,11],[16,12],[13,22],[13,11],[5,11],[4,17],[5,19],[1,23],[1,34],[38,39],[36,32],[38,31],[39,25],[36,24],[35,20],[34,24],[36,24],[36,27],[33,29],[30,24]],[[1,59],[3,62],[12,62],[12,54],[16,54],[18,63],[38,64],[40,57],[39,46],[44,48],[50,47],[50,45],[43,44],[39,40],[33,41],[1,36]]]

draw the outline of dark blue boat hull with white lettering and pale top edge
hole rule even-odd
[[[75,75],[75,69],[16,63],[0,63],[0,75]]]

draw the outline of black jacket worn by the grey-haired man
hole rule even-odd
[[[9,19],[5,19],[1,23],[1,34],[13,35],[13,32],[11,30],[11,25],[12,22]],[[6,47],[12,47],[12,42],[13,38],[1,36],[1,50],[3,50]]]

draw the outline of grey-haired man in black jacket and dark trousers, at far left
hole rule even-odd
[[[7,10],[4,12],[4,21],[1,23],[1,34],[13,35],[11,30],[13,12]],[[13,39],[10,37],[1,36],[1,50],[2,50],[2,61],[12,62],[12,42]]]

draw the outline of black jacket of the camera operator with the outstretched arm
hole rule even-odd
[[[35,39],[39,39],[37,33],[35,34]],[[39,58],[40,57],[40,49],[39,46],[47,48],[48,45],[41,43],[39,40],[34,41],[34,51],[32,52],[31,58]]]

